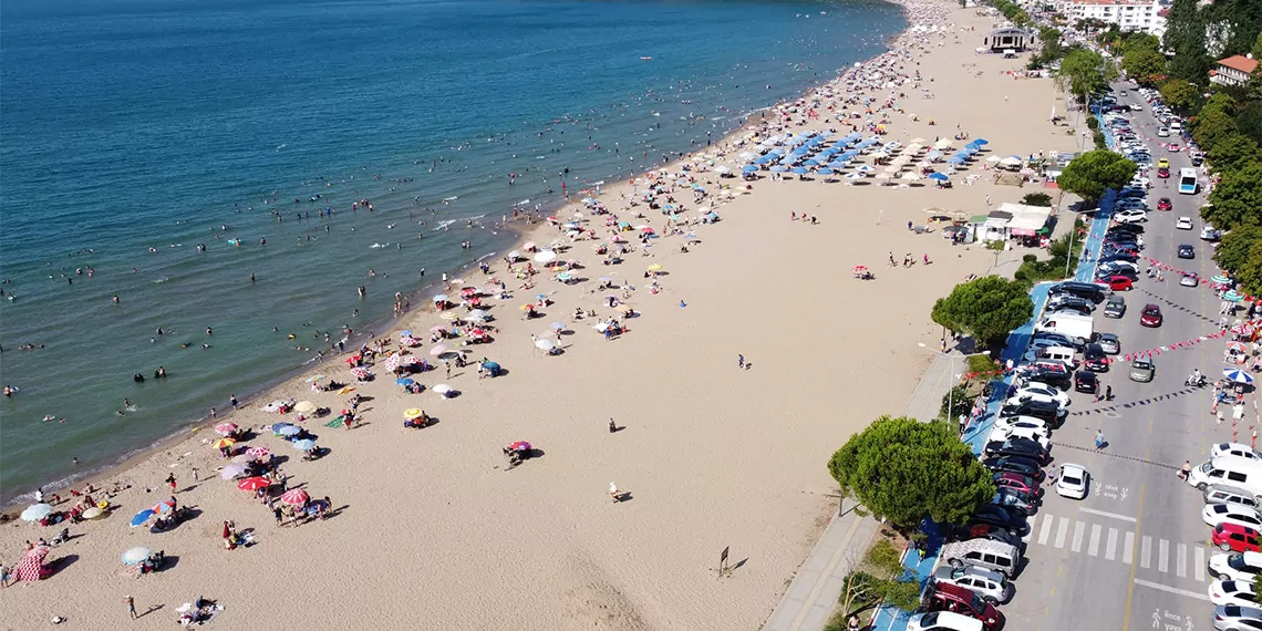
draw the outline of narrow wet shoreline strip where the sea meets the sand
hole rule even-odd
[[[893,48],[895,43],[900,42],[901,39],[904,39],[906,37],[910,37],[912,34],[911,29],[912,29],[914,24],[911,23],[910,15],[907,13],[907,3],[905,0],[880,0],[880,1],[882,1],[885,4],[890,4],[890,5],[893,5],[893,6],[897,6],[899,10],[900,10],[900,14],[902,15],[902,19],[906,20],[907,24],[906,24],[906,27],[901,32],[890,35],[888,38],[886,38],[882,42],[882,47],[885,48],[885,50],[882,50],[881,53],[875,54],[875,56],[872,56],[870,58],[866,58],[863,61],[854,62],[856,64],[867,64],[867,63],[871,63],[872,61],[880,58],[881,56],[887,54]],[[810,86],[804,92],[799,93],[795,97],[785,98],[782,101],[776,101],[776,102],[772,102],[772,103],[762,106],[762,107],[756,107],[756,109],[751,110],[747,115],[743,115],[743,116],[740,116],[740,117],[729,117],[728,120],[732,121],[729,124],[729,129],[727,131],[724,131],[721,136],[718,136],[714,140],[713,148],[729,144],[733,140],[736,140],[738,136],[743,135],[742,130],[745,130],[751,124],[751,121],[753,120],[755,116],[757,116],[757,115],[760,115],[762,112],[775,111],[775,110],[779,110],[781,106],[785,106],[787,103],[793,103],[793,102],[808,98],[817,90],[819,90],[820,86],[824,86],[824,85],[828,85],[828,83],[830,83],[833,81],[840,80],[852,68],[853,68],[853,66],[839,68],[838,74],[835,77],[833,77],[833,78],[829,78],[829,80],[811,81]],[[740,121],[740,122],[737,122],[737,121]],[[707,149],[712,149],[712,146],[698,146],[698,148],[694,148],[693,151],[676,153],[676,155],[674,155],[671,160],[668,160],[665,163],[660,163],[659,164],[658,162],[652,162],[652,163],[649,164],[649,169],[646,169],[644,173],[652,173],[652,172],[670,169],[673,167],[687,164],[687,163],[689,163],[689,160],[694,155],[704,153]],[[632,174],[630,177],[626,177],[623,179],[616,179],[613,182],[603,182],[602,184],[598,184],[598,186],[593,184],[593,186],[588,186],[588,187],[584,187],[584,188],[579,188],[575,192],[570,193],[568,197],[553,198],[553,199],[549,199],[546,203],[539,204],[536,208],[533,208],[530,211],[522,211],[520,221],[519,220],[511,220],[509,222],[509,225],[505,225],[505,226],[500,226],[498,222],[492,222],[492,226],[498,226],[498,230],[505,230],[505,231],[509,231],[509,232],[514,233],[514,239],[511,241],[511,245],[509,245],[502,251],[486,252],[486,254],[482,254],[482,255],[475,257],[473,261],[471,261],[471,262],[468,262],[466,265],[462,265],[462,266],[458,266],[458,268],[451,269],[451,270],[438,270],[438,273],[439,274],[444,274],[444,273],[449,274],[449,275],[452,275],[452,278],[461,278],[461,276],[466,275],[469,270],[477,269],[478,262],[482,261],[482,260],[486,260],[488,257],[497,257],[497,256],[500,256],[502,254],[511,252],[512,250],[520,250],[521,245],[524,245],[526,242],[530,242],[533,240],[538,240],[539,237],[536,237],[535,235],[539,233],[539,232],[543,232],[544,228],[550,227],[548,225],[548,222],[545,221],[545,217],[555,216],[555,215],[560,213],[562,211],[564,211],[567,208],[570,208],[570,207],[582,208],[583,204],[579,203],[579,202],[577,202],[577,199],[581,199],[583,197],[592,197],[592,198],[594,198],[597,201],[602,201],[601,197],[603,197],[604,194],[607,194],[607,193],[617,189],[618,187],[627,186],[632,180],[639,179],[640,177],[642,177],[642,173],[641,174]],[[601,188],[602,193],[594,193],[593,192],[594,188]],[[510,211],[511,211],[511,208],[510,208]],[[491,216],[493,213],[495,213],[495,211],[487,211],[487,212],[483,213],[483,216],[488,217],[488,216]],[[534,216],[534,221],[530,221],[530,218],[529,218],[530,216]],[[483,226],[483,230],[490,230],[490,228],[487,228],[486,226]],[[347,346],[348,347],[351,346],[350,342],[352,339],[357,339],[358,341],[357,343],[367,343],[370,339],[372,339],[366,333],[363,333],[365,331],[376,333],[379,328],[381,328],[381,329],[384,329],[386,332],[392,331],[394,328],[396,328],[396,326],[401,326],[403,328],[406,328],[406,324],[403,324],[403,321],[406,321],[409,317],[414,317],[418,313],[424,313],[427,310],[434,310],[433,309],[433,304],[430,304],[429,300],[428,300],[428,298],[429,298],[428,294],[430,294],[434,290],[434,288],[439,286],[440,284],[442,284],[442,280],[434,280],[432,283],[423,284],[423,285],[418,286],[411,293],[405,293],[404,298],[406,298],[406,299],[414,299],[414,302],[424,299],[424,300],[416,302],[416,304],[419,304],[420,307],[416,308],[416,309],[409,310],[408,313],[405,313],[401,317],[384,316],[381,318],[370,321],[370,323],[367,326],[361,327],[360,329],[357,329],[352,334],[352,337],[350,337],[350,338],[346,339],[348,342]],[[385,333],[385,334],[389,334],[389,333]],[[298,369],[294,369],[294,370],[290,370],[290,371],[285,371],[285,372],[283,372],[283,374],[280,374],[278,376],[274,376],[273,379],[269,379],[265,382],[262,382],[257,389],[246,391],[245,396],[240,399],[241,400],[241,405],[245,406],[245,405],[247,405],[251,401],[269,399],[268,392],[273,392],[273,391],[280,389],[285,384],[288,384],[292,380],[297,379],[299,374],[304,374],[304,372],[307,372],[307,371],[309,371],[309,370],[312,370],[312,369],[314,369],[317,366],[327,363],[331,360],[339,360],[339,358],[347,357],[350,355],[353,355],[353,351],[348,351],[346,353],[331,353],[331,355],[326,355],[323,361],[319,361],[319,362],[310,362],[309,361],[307,363],[300,365]],[[197,432],[199,432],[202,429],[209,429],[211,427],[213,427],[215,424],[218,424],[218,423],[231,422],[231,418],[235,414],[236,414],[235,411],[230,410],[227,413],[223,413],[223,414],[218,415],[215,419],[211,419],[208,415],[198,416],[196,419],[189,419],[188,422],[186,422],[186,424],[183,424],[182,427],[179,427],[175,430],[170,432],[168,435],[162,437],[162,438],[159,438],[159,439],[156,439],[154,442],[150,442],[146,445],[135,447],[134,449],[124,453],[122,456],[119,456],[115,462],[112,462],[112,463],[102,464],[102,466],[98,466],[98,467],[95,467],[95,468],[91,468],[91,469],[86,469],[86,471],[83,471],[80,475],[71,475],[71,476],[66,476],[66,477],[59,478],[59,480],[53,480],[53,481],[45,482],[43,486],[40,486],[40,488],[44,490],[45,495],[50,495],[50,493],[56,493],[56,492],[58,492],[61,490],[71,488],[73,486],[83,486],[83,485],[87,485],[87,483],[101,486],[105,482],[106,478],[117,477],[117,476],[125,475],[126,471],[129,471],[130,468],[134,468],[134,467],[139,466],[141,461],[144,461],[144,459],[146,459],[149,457],[154,457],[154,456],[156,456],[160,452],[164,452],[167,449],[172,449],[172,448],[174,448],[175,445],[178,445],[179,443],[182,443],[184,440],[193,439],[194,437],[192,434],[196,434]],[[53,485],[57,485],[57,486],[53,486]],[[14,511],[20,511],[20,509],[25,504],[28,504],[32,498],[34,498],[34,490],[16,493],[11,498],[9,498],[5,502],[0,504],[0,515],[13,516],[14,519],[16,519]],[[10,515],[10,514],[13,514],[13,515]]]

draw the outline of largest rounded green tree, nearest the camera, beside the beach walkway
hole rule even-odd
[[[828,471],[843,496],[904,533],[925,517],[963,524],[994,497],[991,472],[958,434],[906,416],[872,422],[833,453]]]

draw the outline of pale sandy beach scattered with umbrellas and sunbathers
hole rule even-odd
[[[992,19],[954,3],[907,6],[912,25],[940,30],[909,32],[892,43],[893,52],[866,64],[921,76],[919,85],[862,92],[877,97],[876,105],[906,95],[893,98],[902,111],[875,115],[890,120],[885,139],[906,145],[919,136],[931,144],[967,133],[989,140],[983,155],[1001,156],[1076,146],[1065,127],[1047,121],[1053,106],[1065,111],[1050,80],[1013,78],[1006,72],[1018,71],[1023,59],[974,53]],[[843,103],[846,81],[833,86],[837,110],[854,109]],[[837,122],[837,110],[785,117],[786,126],[772,133],[835,127],[844,135],[849,124]],[[738,154],[750,145],[736,143],[760,121],[699,159],[738,170]],[[692,173],[711,193],[719,183],[743,187],[713,170]],[[968,186],[968,174],[981,177]],[[924,223],[929,207],[977,215],[987,212],[988,201],[1045,191],[996,186],[981,163],[954,182],[936,189],[764,178],[748,194],[699,203],[680,188],[685,215],[699,216],[695,208],[708,206],[722,220],[684,228],[699,241],[688,252],[680,251],[683,236],[651,240],[646,251],[627,233],[634,251],[611,266],[592,249],[610,236],[606,216],[583,211],[582,227],[598,241],[569,244],[543,223],[529,239],[570,245],[560,257],[578,260],[574,274],[588,280],[563,284],[543,271],[534,289],[522,290],[502,260],[488,261],[490,276],[502,279],[512,298],[487,300],[498,332],[493,343],[471,347],[469,357],[488,357],[506,375],[478,379],[471,363],[448,379],[439,369],[415,376],[427,390],[413,395],[384,366],[375,369],[375,381],[353,384],[338,357],[318,372],[352,382],[366,400],[352,429],[327,428],[327,419],[302,423],[327,456],[304,462],[269,432],[247,442],[289,457],[280,464],[289,488],[328,496],[327,520],[278,526],[251,493],[220,480],[217,468],[227,461],[206,444],[216,437],[196,432],[112,476],[131,488],[110,500],[107,517],[69,526],[74,538],[48,557],[59,568],[54,575],[0,589],[6,612],[0,627],[43,627],[54,616],[73,628],[114,621],[169,627],[175,608],[201,594],[223,606],[207,625],[225,628],[756,628],[835,510],[828,456],[873,418],[905,409],[939,345],[940,331],[929,321],[933,302],[996,262],[981,246],[952,246],[938,232],[909,231],[907,222]],[[660,232],[661,213],[646,204],[627,209],[626,199],[645,187],[608,187],[599,201],[618,218]],[[579,204],[557,216],[568,220],[574,209]],[[645,218],[635,218],[637,212]],[[791,213],[818,223],[791,221]],[[1005,252],[1000,271],[1011,274],[1012,261],[1026,252]],[[891,254],[900,261],[911,254],[916,264],[891,268]],[[644,278],[649,265],[663,266],[656,294],[649,290],[652,279]],[[856,265],[870,266],[876,280],[854,279]],[[599,276],[635,288],[625,302],[637,317],[608,308],[606,295],[622,290],[598,290]],[[454,280],[454,294],[487,284],[478,270]],[[553,304],[524,319],[519,305],[539,293]],[[575,321],[575,308],[597,317]],[[610,317],[627,331],[606,339],[592,324]],[[553,322],[569,331],[557,356],[531,339],[548,334]],[[401,319],[389,337],[394,342],[399,329],[420,334],[440,323],[427,308]],[[432,360],[425,342],[413,352]],[[435,384],[461,394],[442,399],[428,390]],[[312,392],[299,377],[221,420],[244,428],[293,422],[294,414],[259,410],[274,399],[347,406],[347,396]],[[409,408],[438,423],[401,427]],[[610,433],[611,418],[621,430]],[[541,454],[506,471],[501,448],[515,440]],[[163,534],[129,528],[131,515],[169,496],[168,475],[178,481],[179,502],[199,515]],[[611,501],[611,482],[630,498]],[[225,550],[223,520],[254,529],[254,545]],[[24,541],[52,539],[58,530],[21,521],[0,526],[0,560],[13,567]],[[122,565],[119,555],[138,545],[164,550],[164,569],[138,578]],[[724,546],[738,567],[719,579],[714,568]],[[127,621],[126,596],[138,613],[149,613]]]

